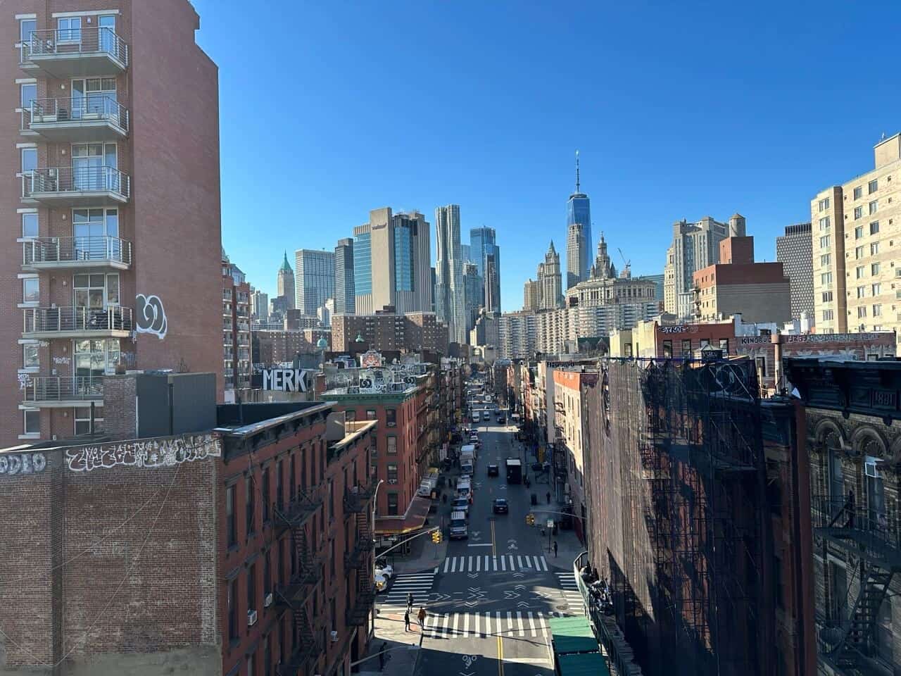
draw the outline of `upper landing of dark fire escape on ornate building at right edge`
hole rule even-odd
[[[887,571],[901,571],[901,536],[887,515],[847,498],[814,496],[814,534]]]

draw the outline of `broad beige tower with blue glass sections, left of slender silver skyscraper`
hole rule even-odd
[[[369,212],[353,229],[353,279],[358,315],[391,307],[398,314],[432,308],[429,224],[422,214]]]

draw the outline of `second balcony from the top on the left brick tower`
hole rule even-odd
[[[41,98],[23,110],[19,131],[50,142],[118,141],[128,123],[128,109],[112,96]]]

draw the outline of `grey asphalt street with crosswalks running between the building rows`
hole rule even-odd
[[[469,539],[451,541],[447,558],[434,570],[399,576],[390,598],[380,604],[403,607],[400,599],[407,590],[414,593],[415,609],[426,603],[429,617],[415,674],[550,676],[549,617],[582,614],[572,594],[567,595],[571,569],[547,551],[539,525],[525,523],[531,493],[545,502],[547,485],[507,485],[504,461],[520,452],[512,428],[488,425],[479,427],[482,448],[473,479]],[[489,478],[488,464],[499,465],[500,476]],[[508,514],[492,513],[494,498],[507,498]],[[441,515],[449,515],[449,507],[440,509]]]

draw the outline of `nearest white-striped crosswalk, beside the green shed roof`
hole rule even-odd
[[[548,636],[548,617],[541,611],[496,610],[484,613],[432,613],[425,619],[426,638],[493,638],[501,635]]]

